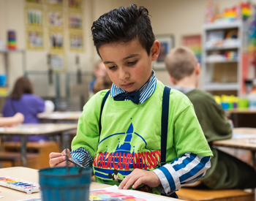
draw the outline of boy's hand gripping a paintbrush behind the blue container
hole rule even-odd
[[[67,156],[69,159],[72,159],[69,149],[67,148]],[[72,162],[68,162],[69,166],[75,166]],[[50,167],[64,167],[66,166],[66,149],[61,153],[50,153]]]

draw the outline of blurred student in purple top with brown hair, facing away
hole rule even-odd
[[[29,78],[20,77],[15,82],[10,98],[5,102],[2,114],[11,117],[15,113],[24,115],[23,124],[38,124],[38,113],[45,111],[45,100],[33,94],[33,86]],[[31,136],[29,141],[47,140],[47,137]]]

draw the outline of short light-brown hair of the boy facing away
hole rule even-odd
[[[195,53],[186,47],[178,47],[170,50],[165,56],[165,67],[170,76],[179,81],[192,75],[197,65]]]

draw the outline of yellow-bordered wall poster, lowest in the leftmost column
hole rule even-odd
[[[28,50],[43,50],[43,29],[28,29],[26,31],[26,48]]]

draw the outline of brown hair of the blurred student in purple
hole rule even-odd
[[[11,99],[20,99],[23,94],[33,94],[33,86],[27,77],[20,77],[15,82]]]

